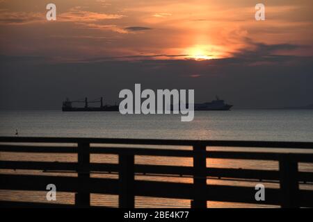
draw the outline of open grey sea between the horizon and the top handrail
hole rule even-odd
[[[0,135],[313,141],[313,110],[232,110],[179,115],[118,112],[0,112]]]

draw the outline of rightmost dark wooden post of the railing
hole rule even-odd
[[[281,207],[299,207],[298,205],[298,162],[290,154],[282,154],[280,159]]]

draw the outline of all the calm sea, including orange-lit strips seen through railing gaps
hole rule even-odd
[[[232,110],[230,112],[195,112],[191,122],[180,121],[179,115],[121,115],[118,112],[60,112],[60,111],[14,111],[0,112],[0,136],[32,137],[115,137],[145,139],[236,139],[313,142],[312,110]],[[214,149],[214,148],[211,148]],[[216,148],[230,149],[230,148]],[[245,148],[250,149],[250,148]],[[266,151],[277,151],[274,149]],[[280,150],[281,151],[281,150]],[[290,150],[285,150],[290,151]],[[0,153],[0,160],[37,160],[75,162],[77,155],[41,155],[24,153]],[[92,162],[118,162],[115,155],[92,155]],[[169,164],[192,166],[190,158],[136,157],[140,164]],[[248,160],[208,159],[208,167],[243,169],[278,169],[278,162]],[[312,164],[300,164],[301,171],[313,171]],[[40,171],[1,171],[1,173],[26,173],[60,175]],[[75,176],[75,173],[67,173]],[[94,177],[116,178],[115,175]],[[192,182],[191,178],[161,178],[137,176],[137,179]],[[259,182],[207,180],[209,184],[246,185]],[[277,184],[264,183],[267,187]],[[302,186],[303,189],[312,187]],[[45,202],[45,192],[1,191],[0,200]],[[58,203],[73,203],[74,194],[58,193]],[[118,196],[92,195],[93,205],[117,206]],[[239,203],[209,202],[209,207],[257,207]],[[189,207],[189,200],[167,198],[136,198],[136,207]]]

